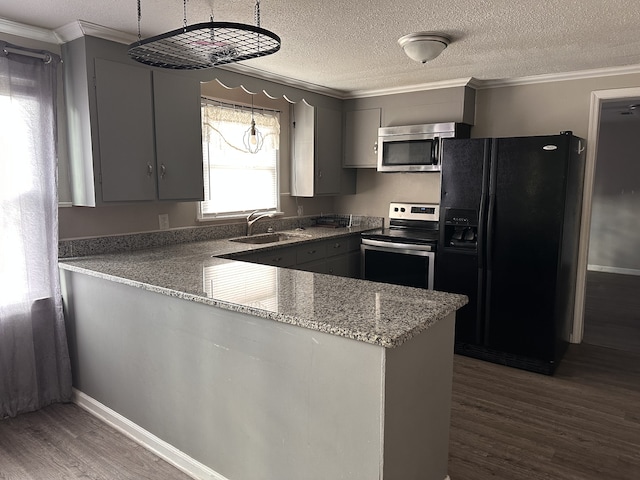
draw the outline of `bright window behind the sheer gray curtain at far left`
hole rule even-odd
[[[0,72],[0,309],[47,297],[51,288],[46,254],[54,240],[47,217],[56,202],[55,167],[45,142],[53,139],[54,109],[38,95],[48,84],[38,81],[17,67]]]

